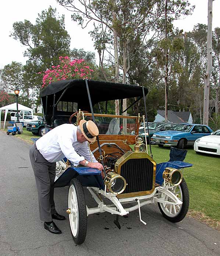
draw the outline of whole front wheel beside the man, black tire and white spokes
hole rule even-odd
[[[70,209],[69,223],[72,238],[77,245],[81,245],[86,238],[87,211],[82,185],[75,178],[70,182],[68,208]]]

